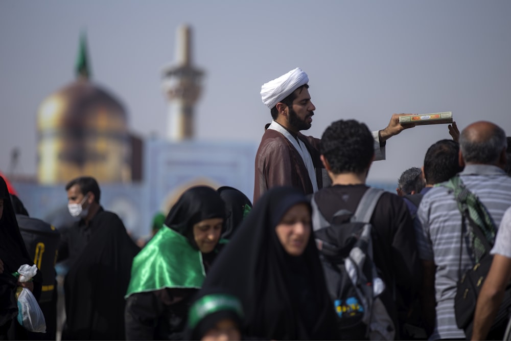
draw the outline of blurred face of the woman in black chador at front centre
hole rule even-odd
[[[311,213],[307,204],[292,206],[275,228],[275,233],[289,255],[303,254],[311,235]]]

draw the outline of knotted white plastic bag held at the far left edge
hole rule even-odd
[[[18,269],[18,281],[21,283],[28,282],[36,273],[36,265],[21,265]],[[46,332],[44,314],[42,313],[34,294],[32,294],[32,291],[27,288],[21,289],[18,296],[18,322],[28,331],[36,333]]]

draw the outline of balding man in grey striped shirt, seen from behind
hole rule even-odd
[[[480,121],[463,129],[459,144],[459,163],[465,167],[460,178],[498,226],[511,206],[511,177],[503,170],[506,135],[497,125]],[[454,297],[460,274],[474,261],[466,239],[461,238],[461,214],[452,191],[443,186],[431,189],[422,199],[417,217],[422,224],[417,241],[424,281],[434,286],[431,292],[436,301],[436,321],[430,339],[465,339],[464,331],[456,325]]]

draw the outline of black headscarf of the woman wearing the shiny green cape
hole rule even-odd
[[[193,236],[193,225],[211,218],[224,219],[225,204],[213,188],[195,186],[185,191],[172,206],[165,225],[187,237],[190,244],[198,249]]]

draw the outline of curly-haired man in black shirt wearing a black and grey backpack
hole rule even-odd
[[[318,223],[319,220],[316,219],[318,214],[332,224],[326,234],[332,237],[332,235],[341,232],[344,222],[352,219],[362,197],[364,197],[364,201],[370,202],[371,196],[380,195],[380,199],[373,202],[375,206],[370,208],[370,210],[373,210],[373,214],[366,221],[368,223],[366,225],[369,225],[370,229],[363,229],[364,232],[370,231],[370,236],[357,235],[355,239],[362,241],[362,243],[350,244],[349,248],[356,249],[359,254],[367,252],[369,256],[371,256],[370,254],[373,255],[372,260],[374,260],[377,271],[376,274],[373,274],[374,276],[368,274],[368,276],[371,276],[368,283],[375,287],[376,292],[376,288],[382,284],[380,282],[383,282],[385,289],[379,294],[379,298],[393,321],[393,338],[399,339],[400,329],[409,312],[409,303],[416,297],[422,283],[421,264],[416,254],[417,247],[412,220],[406,204],[396,194],[371,189],[365,185],[369,167],[374,160],[373,138],[365,124],[355,120],[340,120],[332,123],[323,132],[320,151],[321,161],[332,179],[332,186],[316,192],[312,200],[313,228],[318,248],[322,253],[323,265],[326,264],[326,259],[329,258],[326,252],[327,244],[335,244],[335,241],[332,240],[335,238],[321,240],[319,230],[325,228],[325,226]],[[369,189],[371,190],[369,197],[364,196]],[[367,212],[368,210],[364,211]],[[364,216],[366,212],[360,212],[360,216]],[[358,216],[359,212],[356,214]],[[358,217],[357,221],[360,221]],[[337,224],[340,227],[336,231]],[[323,236],[325,235],[323,234]],[[372,243],[372,247],[364,246],[366,242],[369,245]],[[343,245],[333,246],[340,248]],[[356,264],[356,258],[352,253],[348,260]],[[328,261],[330,265],[342,268],[345,262],[343,264],[340,264],[340,262],[339,259],[339,263],[335,264],[332,258]],[[372,264],[366,264],[369,267],[372,266]],[[337,267],[338,265],[341,266]],[[323,268],[328,269],[328,266],[323,266]],[[346,271],[349,271],[348,268],[349,266],[346,267]],[[345,274],[341,275],[345,277]],[[362,309],[366,309],[363,305],[364,302],[360,302],[361,299],[364,299],[363,297],[359,297],[357,303],[350,302],[350,300],[341,302],[342,298],[335,297],[339,292],[336,287],[338,283],[330,280],[333,277],[326,276],[327,285],[333,296],[332,299],[336,303],[336,309],[341,320],[346,317],[346,312],[352,312],[353,308],[358,308],[359,305],[362,306]],[[361,294],[361,296],[363,295]],[[372,327],[358,325],[353,328],[361,329],[362,335],[364,335],[365,329],[371,329]],[[358,339],[358,335],[360,335],[357,331],[350,330],[346,326],[343,332],[347,339]],[[365,332],[365,337],[369,338],[369,334]]]

